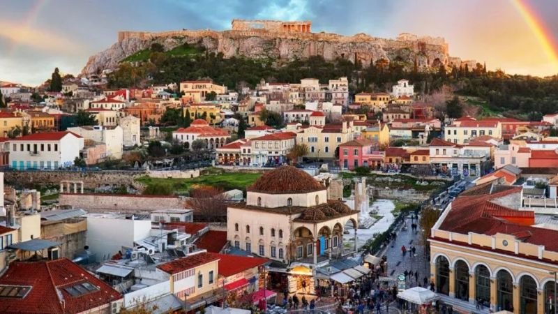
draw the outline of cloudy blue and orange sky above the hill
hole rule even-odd
[[[506,73],[558,73],[557,0],[3,0],[0,80],[78,74],[118,31],[230,28],[233,18],[311,20],[312,31],[442,36],[453,57]]]

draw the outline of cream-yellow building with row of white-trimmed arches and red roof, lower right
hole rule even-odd
[[[461,193],[432,227],[430,273],[445,304],[492,312],[553,313],[558,230],[535,225],[521,186],[492,183]],[[445,295],[445,296],[444,296]]]

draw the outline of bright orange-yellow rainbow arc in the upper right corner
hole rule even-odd
[[[541,44],[553,68],[558,72],[558,47],[552,40],[552,33],[548,31],[541,18],[536,15],[534,9],[528,5],[526,0],[511,0],[511,3],[513,3],[515,9],[518,10],[521,17],[523,17],[523,20],[525,20],[529,29],[531,29],[538,42]]]

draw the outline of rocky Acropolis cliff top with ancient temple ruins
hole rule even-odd
[[[225,58],[242,55],[249,58],[280,60],[303,59],[320,55],[326,60],[337,58],[359,61],[364,67],[379,59],[398,60],[409,67],[414,62],[421,70],[460,66],[462,61],[449,57],[444,38],[401,33],[395,39],[377,38],[365,33],[342,36],[336,33],[312,33],[312,22],[273,20],[232,20],[227,31],[186,30],[152,33],[119,31],[118,42],[89,58],[83,75],[116,68],[119,61],[140,50],[160,43],[169,50],[183,43],[202,45],[209,52],[222,52]]]

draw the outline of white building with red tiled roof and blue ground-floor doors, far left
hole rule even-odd
[[[84,138],[68,131],[35,133],[10,140],[8,147],[14,169],[56,169],[74,164]]]

